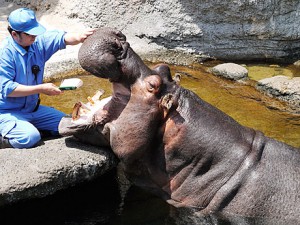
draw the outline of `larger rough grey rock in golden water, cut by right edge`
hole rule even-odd
[[[256,88],[268,95],[300,107],[300,77],[275,76],[257,82]]]

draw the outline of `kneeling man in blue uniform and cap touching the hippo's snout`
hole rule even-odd
[[[40,93],[62,93],[54,84],[43,83],[45,62],[66,45],[83,42],[93,30],[46,31],[32,10],[20,8],[10,13],[8,31],[11,35],[0,45],[0,148],[30,148],[43,131],[58,135],[65,115],[39,104]]]

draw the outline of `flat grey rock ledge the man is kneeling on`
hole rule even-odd
[[[92,180],[116,164],[109,149],[72,137],[45,140],[32,149],[0,149],[0,206],[54,194]]]

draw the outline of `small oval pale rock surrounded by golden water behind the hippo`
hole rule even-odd
[[[231,80],[245,80],[248,78],[248,70],[235,63],[223,63],[210,69],[210,72]]]

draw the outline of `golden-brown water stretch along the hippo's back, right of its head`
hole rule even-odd
[[[173,66],[181,73],[181,85],[227,113],[240,124],[262,131],[266,136],[300,147],[300,114],[284,102],[254,88],[255,82],[238,83],[213,76],[206,69]],[[298,109],[299,112],[299,109]]]

